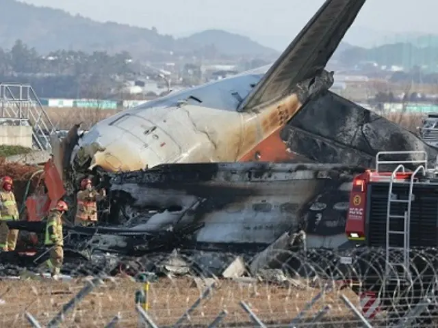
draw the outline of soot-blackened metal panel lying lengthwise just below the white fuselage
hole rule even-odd
[[[338,203],[348,202],[348,188],[344,187],[344,193],[339,190],[361,172],[343,165],[200,163],[159,165],[109,176],[120,213],[136,213],[124,225],[133,232],[202,224],[194,233],[196,243],[268,245],[285,231],[315,226],[318,217],[308,215],[309,208],[333,193],[337,197],[324,201],[332,210],[322,224],[329,229],[318,234],[324,238],[344,234],[342,219],[339,224],[334,221],[345,215],[345,206]],[[125,238],[98,240],[101,248],[111,248],[129,244]]]

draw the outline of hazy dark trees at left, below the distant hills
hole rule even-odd
[[[21,40],[10,50],[0,48],[0,82],[29,83],[43,97],[107,98],[136,75],[133,65],[126,51],[110,55],[59,50],[40,55]]]

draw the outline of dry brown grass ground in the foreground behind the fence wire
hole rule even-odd
[[[68,282],[53,282],[49,279],[1,281],[0,299],[4,303],[0,301],[0,327],[28,327],[24,317],[26,311],[41,325],[47,325],[85,284],[84,279]],[[134,295],[140,288],[142,284],[129,278],[107,280],[94,288],[75,310],[66,315],[61,327],[104,327],[116,315],[120,316],[117,327],[137,327]],[[153,282],[148,297],[151,318],[159,326],[173,325],[202,294],[204,288],[198,288],[194,280],[188,277],[161,278]],[[221,310],[226,310],[228,315],[222,321],[222,326],[238,324],[242,327],[245,323],[249,324],[249,317],[240,306],[240,301],[246,302],[266,324],[289,323],[318,292],[320,288],[302,289],[222,280],[211,293],[211,298],[202,301],[186,323],[209,325]],[[307,317],[313,317],[325,305],[331,305],[331,310],[325,316],[329,323],[355,321],[352,312],[339,299],[342,294],[357,305],[357,297],[350,290],[331,292],[315,303]]]

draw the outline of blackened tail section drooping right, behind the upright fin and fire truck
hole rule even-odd
[[[281,137],[292,152],[320,163],[374,167],[381,151],[424,150],[431,161],[438,154],[398,124],[333,92],[307,102]]]

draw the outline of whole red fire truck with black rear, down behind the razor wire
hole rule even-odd
[[[352,277],[359,296],[393,307],[397,298],[400,308],[436,289],[438,170],[429,163],[426,152],[379,152],[376,169],[355,176],[346,234],[363,257]]]

